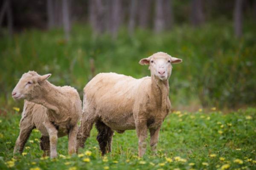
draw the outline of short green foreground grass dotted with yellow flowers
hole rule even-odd
[[[0,169],[209,169],[222,165],[230,169],[256,169],[256,109],[247,108],[224,114],[221,111],[198,111],[194,113],[175,111],[165,119],[160,130],[157,155],[149,148],[143,158],[137,157],[137,136],[135,130],[115,133],[112,152],[100,156],[93,128],[85,149],[90,156],[68,156],[67,137],[58,139],[57,159],[42,159],[38,139],[40,132],[33,130],[24,153],[12,161],[13,147],[19,133],[20,113],[7,111],[0,115]],[[147,139],[149,142],[149,138]],[[178,158],[177,156],[180,156]],[[220,160],[223,157],[224,160]],[[89,162],[83,161],[89,158]],[[234,162],[240,159],[242,164]],[[237,160],[239,161],[239,160]],[[191,165],[190,163],[194,163]],[[240,162],[241,163],[241,162]]]

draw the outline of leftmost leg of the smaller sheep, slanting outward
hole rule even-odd
[[[21,119],[20,120],[20,134],[16,140],[13,153],[22,153],[24,146],[29,139],[30,133],[35,128],[30,119]]]

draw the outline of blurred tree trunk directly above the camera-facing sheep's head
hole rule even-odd
[[[159,33],[164,30],[164,0],[156,0],[156,11],[155,11],[155,20],[154,20],[154,31]]]

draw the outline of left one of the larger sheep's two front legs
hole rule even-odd
[[[145,139],[147,138],[147,122],[138,121],[136,123],[137,136],[139,138],[139,156],[142,157],[146,151],[147,143]]]

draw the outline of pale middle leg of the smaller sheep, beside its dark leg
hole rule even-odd
[[[57,154],[57,143],[58,143],[58,130],[52,125],[51,122],[44,122],[44,126],[49,133],[50,138],[50,157],[55,158],[58,156]]]

